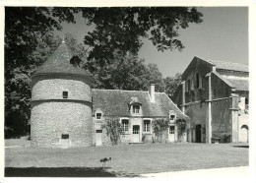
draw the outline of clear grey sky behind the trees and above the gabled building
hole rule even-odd
[[[151,41],[143,39],[139,57],[146,63],[158,64],[162,76],[183,73],[194,56],[210,60],[221,60],[248,64],[248,8],[247,7],[199,7],[203,23],[190,24],[179,31],[179,39],[185,48],[158,51]],[[85,25],[81,15],[76,16],[76,25],[62,24],[63,30],[56,32],[64,37],[66,32],[74,34],[83,42],[86,32],[93,30]]]

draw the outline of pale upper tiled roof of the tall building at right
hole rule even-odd
[[[216,60],[205,60],[212,65],[215,65],[217,69],[231,70],[231,71],[241,71],[241,72],[249,72],[248,65],[239,64],[233,62],[224,62],[224,61],[216,61]]]

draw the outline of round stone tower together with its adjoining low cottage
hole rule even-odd
[[[151,142],[155,119],[167,120],[166,139],[177,141],[176,122],[189,118],[165,93],[154,85],[150,91],[92,90],[89,73],[75,62],[63,41],[32,73],[32,147],[109,145],[102,128],[109,119],[119,120],[121,143]]]

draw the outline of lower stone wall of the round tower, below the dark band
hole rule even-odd
[[[61,148],[61,135],[69,134],[70,147],[90,147],[92,107],[83,102],[32,102],[32,147]]]

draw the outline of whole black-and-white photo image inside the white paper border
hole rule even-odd
[[[248,7],[4,12],[3,179],[248,174]]]

